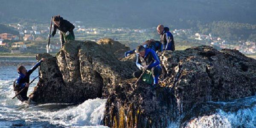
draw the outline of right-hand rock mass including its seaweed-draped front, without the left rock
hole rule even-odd
[[[163,128],[168,126],[166,122],[175,121],[195,104],[255,94],[256,60],[236,50],[218,51],[201,46],[159,55],[166,72],[165,79],[160,81],[161,87],[147,90],[149,85],[140,83],[132,92],[127,88],[131,88],[134,81],[116,86],[117,91],[108,97],[106,104],[105,125]],[[142,116],[136,114],[138,110],[143,110]]]

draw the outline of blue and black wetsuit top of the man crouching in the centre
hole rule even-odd
[[[154,61],[150,65],[148,65],[151,61]],[[152,67],[160,67],[160,60],[157,57],[157,53],[150,48],[145,49],[145,56],[142,57],[137,53],[137,61],[136,65],[140,69],[141,66],[148,65],[148,70],[150,70]]]

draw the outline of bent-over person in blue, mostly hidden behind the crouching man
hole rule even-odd
[[[153,39],[145,41],[143,43],[143,47],[151,48],[155,52],[162,52],[163,51],[163,44],[160,41],[154,41]]]

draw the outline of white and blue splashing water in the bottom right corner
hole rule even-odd
[[[187,128],[256,128],[256,106],[237,112],[217,113],[192,119]]]

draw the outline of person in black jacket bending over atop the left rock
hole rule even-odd
[[[68,40],[75,40],[75,35],[73,29],[75,26],[67,20],[64,20],[60,15],[53,17],[54,29],[52,35],[48,35],[49,38],[53,37],[56,34],[56,30],[60,30],[60,41],[61,47],[65,44]]]

